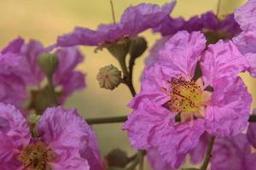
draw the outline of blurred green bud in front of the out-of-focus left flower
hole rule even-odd
[[[59,64],[59,59],[55,54],[41,54],[38,59],[38,65],[49,76],[53,75]]]

